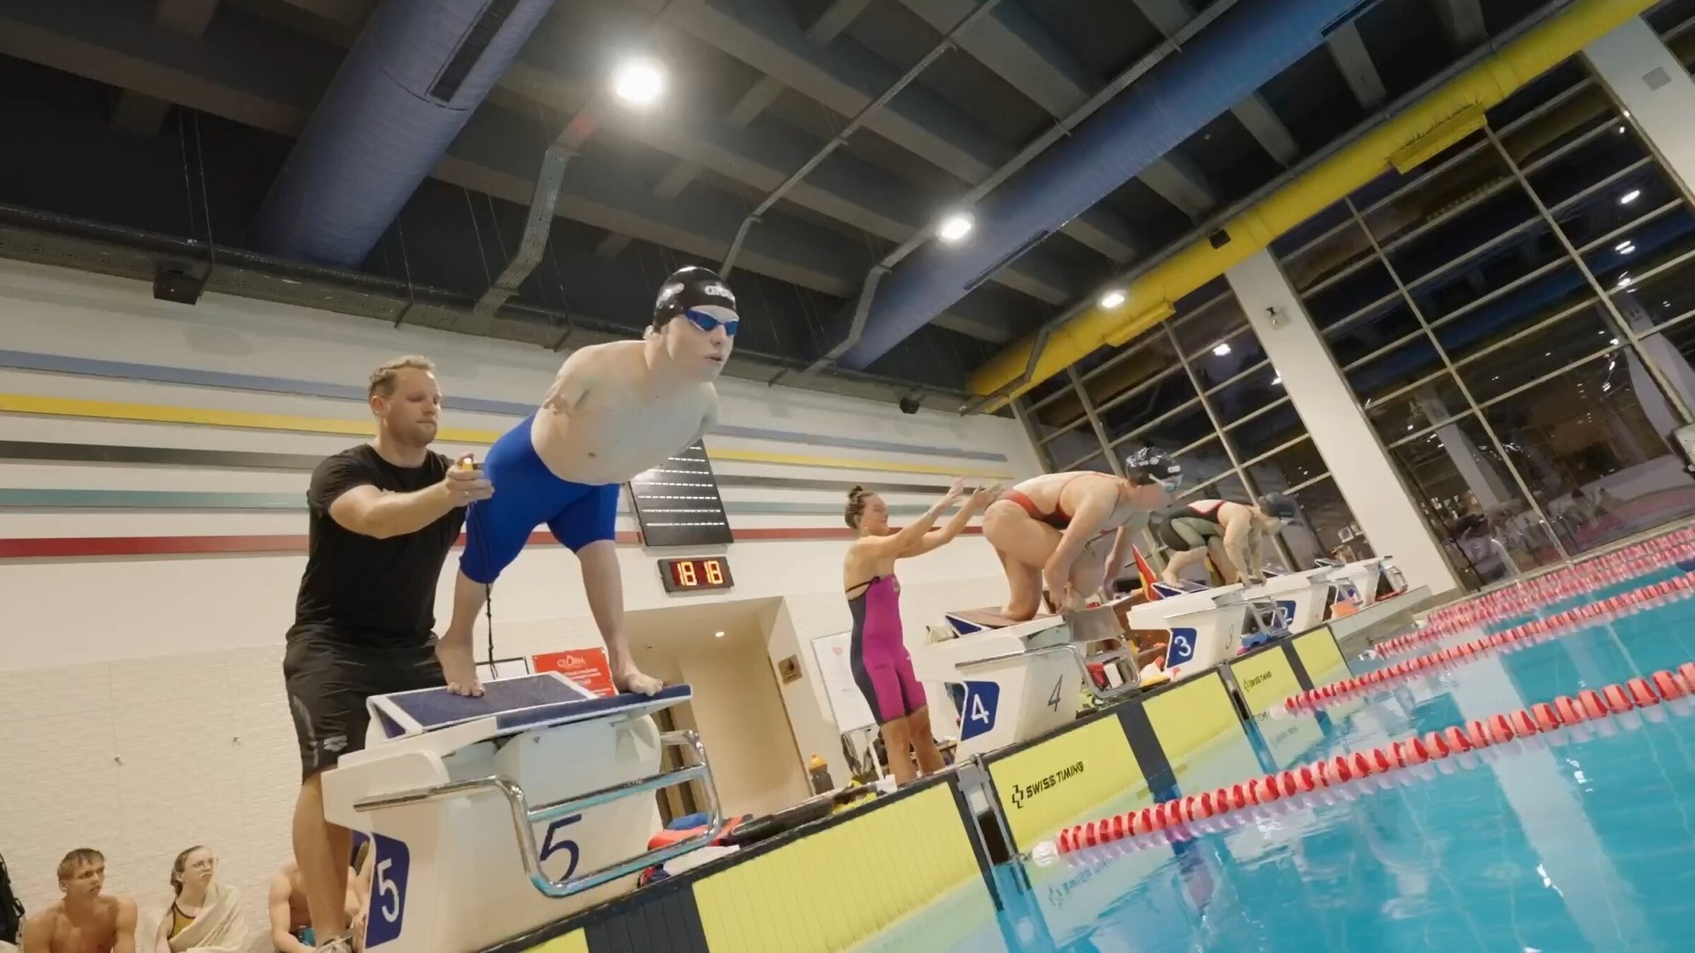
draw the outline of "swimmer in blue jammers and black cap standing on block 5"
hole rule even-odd
[[[437,653],[449,690],[481,694],[471,629],[486,587],[537,526],[583,566],[588,607],[619,690],[653,695],[663,688],[636,668],[624,641],[619,487],[700,439],[717,421],[712,382],[731,356],[737,326],[736,295],[722,278],[709,268],[678,270],[659,287],[642,341],[573,353],[541,409],[488,449],[483,470],[495,493],[466,514],[453,622]]]

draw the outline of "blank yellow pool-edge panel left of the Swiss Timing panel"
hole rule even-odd
[[[961,889],[981,890],[988,899],[946,785],[866,811],[693,885],[714,953],[848,950]]]

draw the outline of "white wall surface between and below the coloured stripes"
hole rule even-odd
[[[170,368],[363,385],[370,368],[424,353],[441,368],[444,427],[505,429],[515,417],[451,409],[454,395],[529,404],[544,393],[561,354],[510,343],[207,295],[195,307],[156,302],[147,285],[56,268],[0,263],[0,343],[8,351],[132,361]],[[366,422],[363,404],[144,380],[112,380],[0,368],[0,441],[205,448],[325,454],[358,437],[7,412],[5,395],[58,397],[214,410],[246,410]],[[931,448],[997,451],[1005,463],[873,449],[803,446],[709,436],[709,453],[763,451],[849,458],[888,470],[719,461],[719,473],[834,482],[946,483],[946,475],[902,471],[944,466],[1025,476],[1039,470],[1010,419],[903,415],[892,405],[812,392],[720,383],[722,421],[805,434],[837,434]],[[10,400],[10,402],[7,402]],[[456,449],[444,444],[441,449]],[[0,490],[168,490],[300,495],[302,471],[22,463],[0,458]],[[727,488],[725,500],[841,504],[817,490]],[[925,495],[892,495],[919,504]],[[841,527],[839,516],[732,514],[739,531]],[[620,519],[620,529],[634,529]],[[302,510],[0,510],[0,546],[42,538],[300,536]],[[780,695],[798,748],[831,758],[844,777],[827,714],[807,709],[815,683],[807,643],[849,626],[841,592],[839,539],[736,543],[727,548],[736,588],[703,602],[781,597],[764,633],[773,658],[798,655],[805,678]],[[680,604],[658,580],[654,556],[620,548],[631,610]],[[437,599],[446,621],[451,570]],[[288,812],[298,783],[293,733],[283,709],[281,649],[292,621],[302,553],[156,555],[136,558],[0,560],[8,634],[0,651],[0,724],[8,765],[0,772],[0,853],[24,902],[56,897],[53,870],[76,846],[107,853],[110,889],[163,909],[175,853],[212,844],[222,875],[246,892],[256,929],[266,877],[288,856]],[[576,583],[575,560],[531,548],[495,590],[497,653],[531,655],[598,644]],[[980,538],[902,565],[910,644],[956,605],[1003,599],[1000,566]],[[481,644],[481,634],[478,636]],[[717,673],[714,673],[717,675]],[[942,709],[946,711],[946,709]],[[824,709],[827,712],[827,709]],[[773,712],[766,712],[778,717]],[[712,738],[707,736],[707,744]],[[790,755],[793,756],[793,753]],[[25,766],[19,770],[17,766]]]

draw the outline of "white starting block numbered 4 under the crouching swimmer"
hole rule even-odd
[[[1007,622],[993,610],[946,614],[956,638],[912,649],[920,682],[964,685],[956,758],[970,758],[1036,738],[1076,717],[1081,692],[1110,702],[1137,688],[1129,648],[1088,655],[1098,641],[1124,639],[1115,600],[1105,605]],[[1122,685],[1100,688],[1090,663],[1131,660]]]

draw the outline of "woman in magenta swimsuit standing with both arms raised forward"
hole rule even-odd
[[[931,734],[931,711],[924,699],[924,685],[912,672],[912,656],[900,626],[900,582],[895,580],[895,561],[922,556],[959,536],[971,514],[981,510],[1000,493],[998,485],[971,493],[948,526],[931,532],[936,519],[964,495],[961,480],[954,480],[948,493],[919,519],[895,531],[888,526],[888,504],[881,497],[854,487],[848,490],[848,526],[859,538],[848,546],[842,560],[842,588],[848,592],[848,609],[853,610],[853,680],[876,714],[888,750],[888,766],[895,783],[917,777],[910,746],[919,760],[919,773],[942,770],[942,756],[936,751]]]

